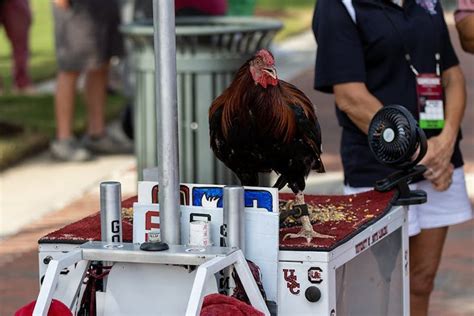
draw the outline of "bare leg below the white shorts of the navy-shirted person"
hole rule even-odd
[[[447,227],[423,229],[410,237],[410,315],[428,315]]]

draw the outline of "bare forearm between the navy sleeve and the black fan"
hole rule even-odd
[[[367,134],[370,121],[382,107],[382,103],[372,95],[365,83],[348,82],[334,85],[337,107],[349,116],[357,127]]]

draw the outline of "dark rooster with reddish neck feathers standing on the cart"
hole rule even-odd
[[[262,49],[237,72],[209,109],[211,148],[242,185],[257,186],[258,173],[279,174],[302,210],[302,229],[286,238],[333,238],[313,230],[303,190],[311,170],[324,172],[321,129],[311,101],[292,84],[278,79],[273,55]]]

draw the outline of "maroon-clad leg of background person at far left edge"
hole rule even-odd
[[[33,93],[28,73],[28,35],[31,25],[28,0],[0,0],[0,25],[3,25],[12,47],[12,91],[20,94]]]

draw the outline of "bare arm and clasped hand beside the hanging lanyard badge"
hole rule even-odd
[[[420,162],[429,170],[425,177],[438,191],[451,185],[451,156],[466,108],[466,86],[461,68],[454,66],[443,71],[442,80],[446,96],[445,125],[438,136],[428,140],[428,151]]]

